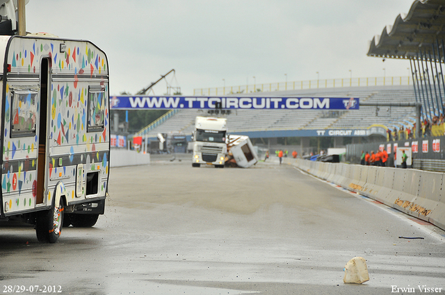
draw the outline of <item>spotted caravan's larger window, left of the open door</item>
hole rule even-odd
[[[35,135],[37,95],[32,90],[13,91],[11,94],[11,136]]]

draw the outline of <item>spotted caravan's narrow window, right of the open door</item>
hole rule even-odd
[[[105,92],[88,90],[88,132],[104,130]]]

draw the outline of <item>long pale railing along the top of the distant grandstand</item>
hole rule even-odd
[[[326,80],[291,81],[279,83],[264,83],[253,85],[238,85],[229,87],[197,88],[193,90],[196,96],[218,96],[229,94],[248,94],[254,92],[273,92],[286,90],[306,90],[318,88],[368,87],[368,86],[401,86],[412,85],[412,78],[405,77],[374,77],[374,78],[338,78]]]

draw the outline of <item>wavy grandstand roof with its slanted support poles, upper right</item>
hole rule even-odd
[[[368,56],[410,60],[423,120],[435,121],[445,114],[444,39],[445,1],[415,0],[407,15],[398,15],[369,46]]]

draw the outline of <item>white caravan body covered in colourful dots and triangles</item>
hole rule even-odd
[[[83,40],[0,36],[3,217],[104,200],[108,62]],[[66,212],[66,211],[65,211]]]

